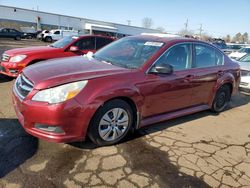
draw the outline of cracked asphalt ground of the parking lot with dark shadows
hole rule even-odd
[[[36,41],[0,41],[10,48]],[[139,130],[121,144],[56,144],[22,129],[0,76],[0,187],[250,187],[250,96]]]

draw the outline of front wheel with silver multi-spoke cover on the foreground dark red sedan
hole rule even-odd
[[[117,144],[128,134],[133,121],[130,105],[114,99],[97,110],[90,122],[88,136],[98,146]]]

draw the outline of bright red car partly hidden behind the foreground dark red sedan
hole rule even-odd
[[[0,73],[17,77],[28,65],[52,58],[83,55],[89,51],[96,52],[113,41],[114,38],[99,35],[68,36],[49,46],[8,50],[2,54]]]

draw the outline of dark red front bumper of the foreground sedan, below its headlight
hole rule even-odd
[[[91,108],[82,108],[74,99],[55,105],[21,100],[14,90],[12,100],[19,122],[29,134],[50,142],[65,143],[85,139],[93,113]],[[37,124],[60,127],[63,132],[44,131],[38,129]]]

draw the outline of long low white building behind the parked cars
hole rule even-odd
[[[69,29],[78,30],[81,34],[104,34],[116,37],[138,35],[145,32],[160,32],[155,29],[147,29],[4,5],[0,5],[0,27],[11,27],[16,29],[21,29],[21,27],[33,27],[37,30]]]

